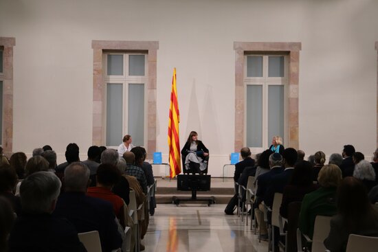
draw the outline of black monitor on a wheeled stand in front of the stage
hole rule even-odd
[[[207,201],[208,206],[215,203],[214,196],[197,198],[197,191],[210,190],[210,175],[177,175],[177,190],[179,191],[192,191],[192,198],[179,198],[173,196],[173,204],[179,206],[181,201]]]

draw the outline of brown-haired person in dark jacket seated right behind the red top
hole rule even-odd
[[[113,205],[86,195],[89,174],[89,168],[83,163],[74,162],[67,166],[65,192],[58,198],[54,216],[67,218],[79,233],[97,230],[102,251],[110,252],[121,247],[122,238],[118,233]]]

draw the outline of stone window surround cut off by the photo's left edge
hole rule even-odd
[[[13,47],[16,38],[0,37],[3,49],[3,139],[1,146],[10,157],[13,147]]]

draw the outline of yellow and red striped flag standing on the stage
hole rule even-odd
[[[179,139],[179,102],[177,100],[176,89],[176,68],[173,69],[172,91],[170,91],[170,108],[168,123],[168,148],[169,148],[169,165],[170,177],[174,178],[181,173],[181,155]]]

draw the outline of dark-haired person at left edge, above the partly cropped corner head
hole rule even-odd
[[[13,211],[19,216],[21,214],[20,198],[14,196],[13,189],[17,183],[16,171],[10,165],[2,165],[0,167],[0,196],[8,199],[12,204]]]

